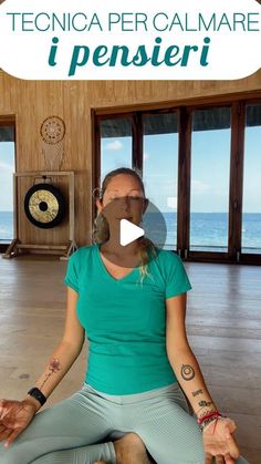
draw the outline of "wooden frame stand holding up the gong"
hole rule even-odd
[[[67,178],[67,184],[69,184],[69,241],[67,244],[61,244],[61,245],[41,245],[41,244],[22,244],[21,239],[20,239],[20,228],[19,228],[19,208],[18,205],[19,202],[18,200],[18,178],[19,177],[34,177],[34,178],[42,178],[42,181],[45,181],[48,177],[52,177],[52,176],[63,176],[65,178]],[[34,187],[36,187],[38,185],[40,186],[45,186],[46,187],[46,202],[49,200],[49,195],[51,198],[54,199],[54,203],[58,200],[63,200],[62,194],[60,194],[60,192],[52,185],[50,184],[35,184]],[[30,188],[30,190],[28,192],[28,194],[30,193],[30,197],[32,198],[32,206],[30,208],[30,202],[29,199],[27,200],[27,196],[25,196],[25,200],[24,200],[24,207],[25,207],[25,213],[27,216],[30,217],[31,210],[32,210],[32,217],[30,217],[30,220],[32,224],[34,224],[34,226],[36,226],[36,220],[35,217],[33,217],[33,203],[35,203],[35,198],[33,200],[33,190],[34,188]],[[35,188],[36,190],[36,188]],[[32,192],[32,194],[31,194]],[[27,195],[28,195],[27,194]],[[36,194],[36,192],[35,192]],[[42,209],[42,217],[43,217],[43,224],[41,225],[41,228],[50,228],[50,227],[54,227],[54,225],[49,226],[48,225],[48,219],[44,224],[44,219],[45,219],[45,215],[44,215],[44,203],[45,202],[40,202],[41,209]],[[35,208],[35,205],[34,205]],[[31,210],[30,210],[31,209]],[[40,209],[40,208],[39,208]],[[44,254],[49,254],[49,255],[61,255],[60,259],[69,259],[70,255],[77,248],[75,240],[74,240],[74,173],[73,172],[32,172],[32,173],[14,173],[13,174],[13,231],[14,231],[14,238],[11,241],[11,244],[9,245],[7,251],[2,255],[3,258],[12,258],[15,257],[18,255],[20,255],[23,250],[34,250],[34,252],[36,250],[44,250]],[[56,220],[56,223],[59,224],[62,220],[62,218],[60,218],[60,220]]]

